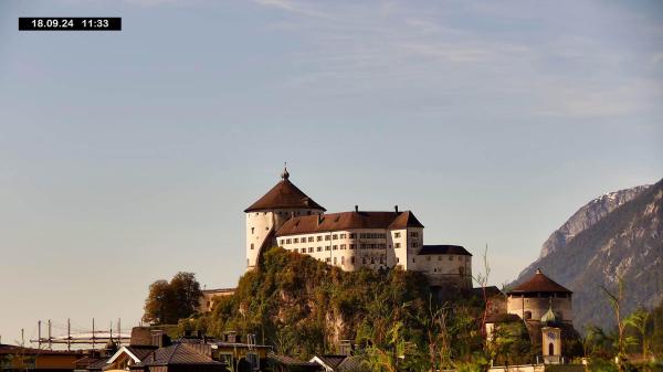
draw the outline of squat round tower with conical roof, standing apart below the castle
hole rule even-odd
[[[537,269],[529,280],[507,293],[506,311],[525,321],[541,321],[554,311],[558,322],[571,323],[571,294]]]

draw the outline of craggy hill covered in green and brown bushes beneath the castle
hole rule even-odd
[[[307,357],[334,352],[338,340],[379,342],[394,318],[402,320],[406,337],[421,338],[413,319],[428,311],[430,298],[419,273],[346,273],[274,247],[259,269],[240,279],[235,295],[221,299],[202,321],[212,333],[255,333],[282,353]]]

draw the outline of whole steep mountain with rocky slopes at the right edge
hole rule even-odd
[[[544,244],[514,284],[540,267],[573,291],[573,323],[614,325],[601,286],[625,284],[624,313],[663,298],[663,180],[621,190],[582,206]]]

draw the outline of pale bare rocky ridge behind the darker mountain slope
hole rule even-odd
[[[541,247],[539,258],[544,258],[551,252],[566,246],[580,232],[592,226],[608,213],[614,211],[618,206],[633,200],[651,185],[640,185],[632,189],[620,190],[601,195],[591,202],[585,204],[578,212],[556,230]]]

